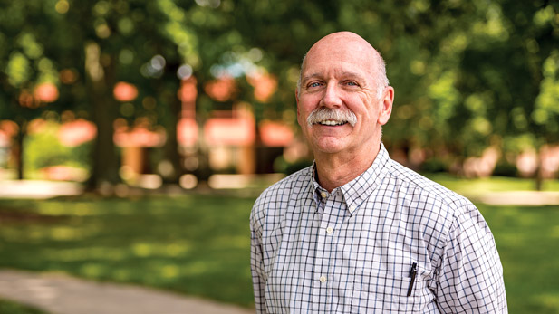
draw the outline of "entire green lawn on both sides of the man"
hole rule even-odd
[[[0,200],[0,268],[139,283],[250,307],[253,202],[209,195]],[[479,208],[496,235],[510,313],[559,313],[559,206]]]

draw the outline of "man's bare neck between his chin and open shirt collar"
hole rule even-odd
[[[379,154],[379,145],[362,147],[360,152],[315,154],[318,183],[328,192],[360,176]]]

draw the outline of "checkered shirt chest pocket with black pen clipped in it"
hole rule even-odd
[[[419,312],[429,303],[427,282],[418,275],[410,289],[410,273],[390,273],[357,268],[352,278],[352,293],[347,294],[352,313],[366,313],[372,310],[381,312]]]

